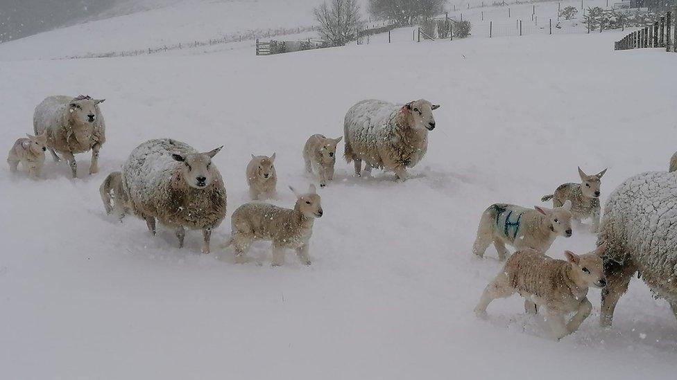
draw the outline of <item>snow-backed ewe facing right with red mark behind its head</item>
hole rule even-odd
[[[440,108],[427,100],[393,105],[382,100],[362,100],[345,114],[345,160],[354,161],[355,175],[372,168],[395,172],[398,181],[408,179],[428,149],[428,131],[435,128],[432,111]]]

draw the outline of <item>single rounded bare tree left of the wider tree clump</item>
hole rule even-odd
[[[354,39],[362,24],[357,0],[329,0],[313,10],[320,23],[320,35],[334,46]]]

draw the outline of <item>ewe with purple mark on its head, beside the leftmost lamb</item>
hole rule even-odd
[[[82,95],[50,96],[35,107],[35,134],[47,132],[47,147],[54,161],[61,161],[55,151],[60,152],[68,161],[73,178],[78,177],[76,153],[92,150],[89,174],[98,172],[98,152],[105,143],[105,123],[98,105],[104,100]]]

